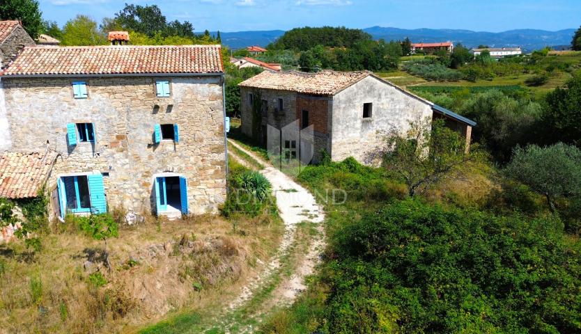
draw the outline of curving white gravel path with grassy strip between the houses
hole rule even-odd
[[[260,173],[272,184],[279,214],[285,226],[277,253],[265,264],[265,269],[228,305],[218,321],[217,327],[226,333],[252,333],[268,312],[290,305],[305,289],[304,278],[314,272],[320,253],[325,247],[321,224],[325,216],[307,189],[242,145],[231,140],[228,143],[265,166]],[[233,157],[242,160],[235,154]],[[297,226],[305,224],[315,232],[300,233]],[[297,238],[299,233],[300,237]]]

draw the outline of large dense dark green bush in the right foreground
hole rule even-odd
[[[579,241],[550,218],[405,200],[334,234],[323,333],[577,333]]]

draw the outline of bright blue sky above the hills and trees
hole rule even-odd
[[[581,0],[40,0],[45,19],[77,14],[98,22],[124,3],[156,4],[196,31],[287,30],[297,26],[556,31],[581,25]]]

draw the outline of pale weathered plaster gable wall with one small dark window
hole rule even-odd
[[[371,118],[363,118],[363,104],[373,103]],[[374,164],[373,153],[393,129],[408,132],[410,122],[432,118],[431,106],[374,77],[366,77],[333,97],[332,149],[334,161],[354,157]]]

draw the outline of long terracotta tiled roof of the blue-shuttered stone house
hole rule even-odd
[[[222,73],[220,50],[219,45],[24,47],[2,75]]]

